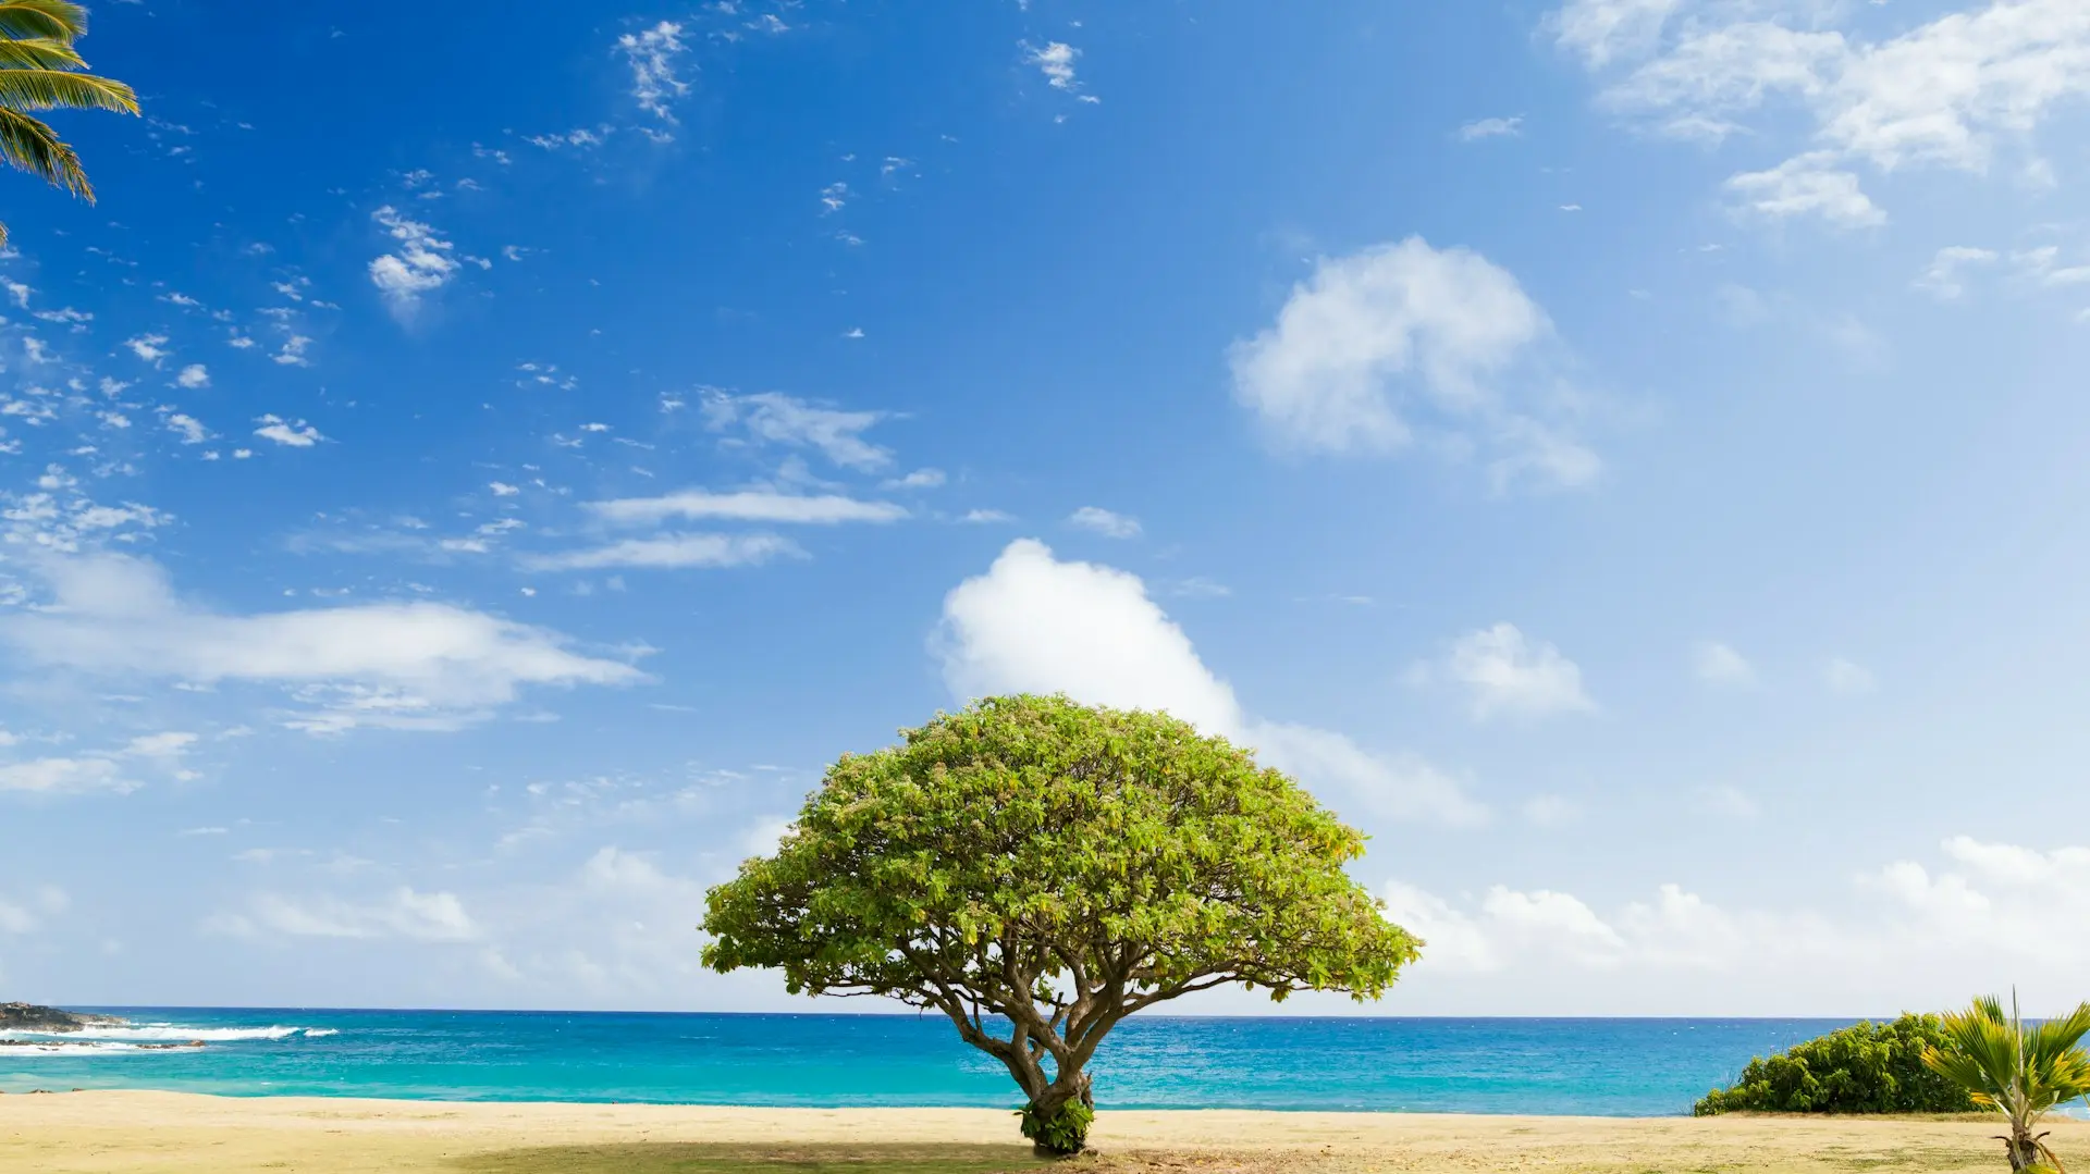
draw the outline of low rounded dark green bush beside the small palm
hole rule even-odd
[[[1937,1015],[1854,1024],[1756,1057],[1731,1088],[1691,1107],[1714,1113],[1971,1113],[1967,1090],[1923,1065],[1923,1047],[1946,1047]]]

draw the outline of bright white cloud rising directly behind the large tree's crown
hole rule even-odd
[[[1379,819],[1476,823],[1486,808],[1415,756],[1371,754],[1348,737],[1246,714],[1183,629],[1135,574],[1060,562],[1018,539],[943,604],[932,641],[957,698],[1035,691],[1089,704],[1168,710],[1204,733],[1260,748],[1338,808]]]

